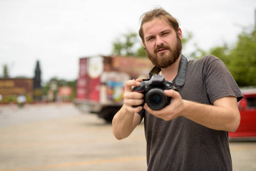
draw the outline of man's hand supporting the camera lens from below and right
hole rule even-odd
[[[159,117],[165,121],[169,121],[175,119],[178,116],[181,116],[182,109],[184,108],[184,101],[182,100],[180,93],[174,91],[173,89],[164,90],[164,93],[166,96],[172,97],[169,105],[158,111],[154,111],[149,108],[147,104],[145,104],[144,109],[152,115]]]

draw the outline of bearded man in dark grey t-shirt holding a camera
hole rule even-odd
[[[144,118],[148,170],[232,170],[228,131],[237,130],[242,99],[225,64],[215,56],[187,60],[181,54],[182,32],[175,18],[156,8],[141,18],[139,31],[148,58],[179,91],[165,108],[132,107],[143,103],[133,92],[141,79],[125,83],[124,105],[113,118],[116,139],[128,137]]]

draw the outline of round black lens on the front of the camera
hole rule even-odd
[[[145,102],[148,104],[149,108],[153,110],[160,110],[166,106],[167,97],[162,89],[153,88],[147,93]]]

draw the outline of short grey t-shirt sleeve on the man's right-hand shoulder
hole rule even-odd
[[[227,96],[237,97],[237,101],[241,100],[243,95],[224,62],[215,56],[209,56],[207,63],[204,79],[211,103]]]

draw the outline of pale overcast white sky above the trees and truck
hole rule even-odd
[[[234,45],[237,36],[255,25],[255,0],[0,0],[0,77],[3,65],[11,78],[34,77],[39,60],[43,82],[78,78],[79,58],[111,55],[112,43],[137,32],[140,16],[163,7],[180,21],[183,48],[204,50]]]

